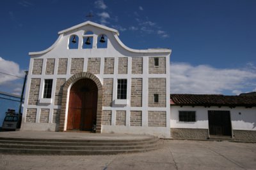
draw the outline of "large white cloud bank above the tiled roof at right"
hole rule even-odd
[[[256,82],[253,69],[217,69],[176,62],[170,66],[170,78],[172,94],[221,94],[225,90],[237,94]]]

